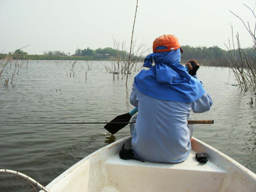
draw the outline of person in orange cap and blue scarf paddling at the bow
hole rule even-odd
[[[141,160],[185,161],[193,133],[193,127],[189,130],[187,125],[190,111],[203,113],[212,106],[196,75],[199,64],[190,60],[186,69],[180,64],[181,53],[176,36],[160,36],[153,42],[153,53],[144,60],[143,66],[149,70],[135,76],[130,103],[138,108],[138,115],[130,130],[134,153]]]

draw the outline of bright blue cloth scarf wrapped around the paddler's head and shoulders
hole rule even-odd
[[[205,93],[198,79],[188,74],[180,64],[180,49],[151,53],[144,60],[143,69],[135,77],[135,85],[143,94],[168,101],[191,103]],[[152,65],[152,62],[155,65]]]

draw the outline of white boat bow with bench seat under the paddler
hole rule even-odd
[[[123,160],[119,151],[131,137],[109,144],[63,172],[46,186],[50,192],[78,191],[256,191],[256,174],[215,148],[192,138],[192,151],[177,164]],[[208,162],[197,162],[206,153]]]

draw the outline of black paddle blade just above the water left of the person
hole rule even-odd
[[[106,124],[104,128],[111,134],[115,134],[117,131],[119,131],[129,123],[131,117],[132,116],[129,113],[118,115],[117,117],[115,117],[115,119],[113,119],[108,124]],[[112,122],[115,122],[115,123],[112,123]],[[118,122],[122,122],[122,123],[118,123]],[[127,122],[127,123],[123,123],[123,122]]]

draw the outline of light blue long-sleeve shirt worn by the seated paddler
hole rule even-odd
[[[138,108],[131,143],[136,156],[146,161],[178,163],[185,161],[191,151],[187,127],[190,110],[206,112],[212,99],[205,92],[193,103],[160,100],[141,93],[133,83],[130,103]]]

